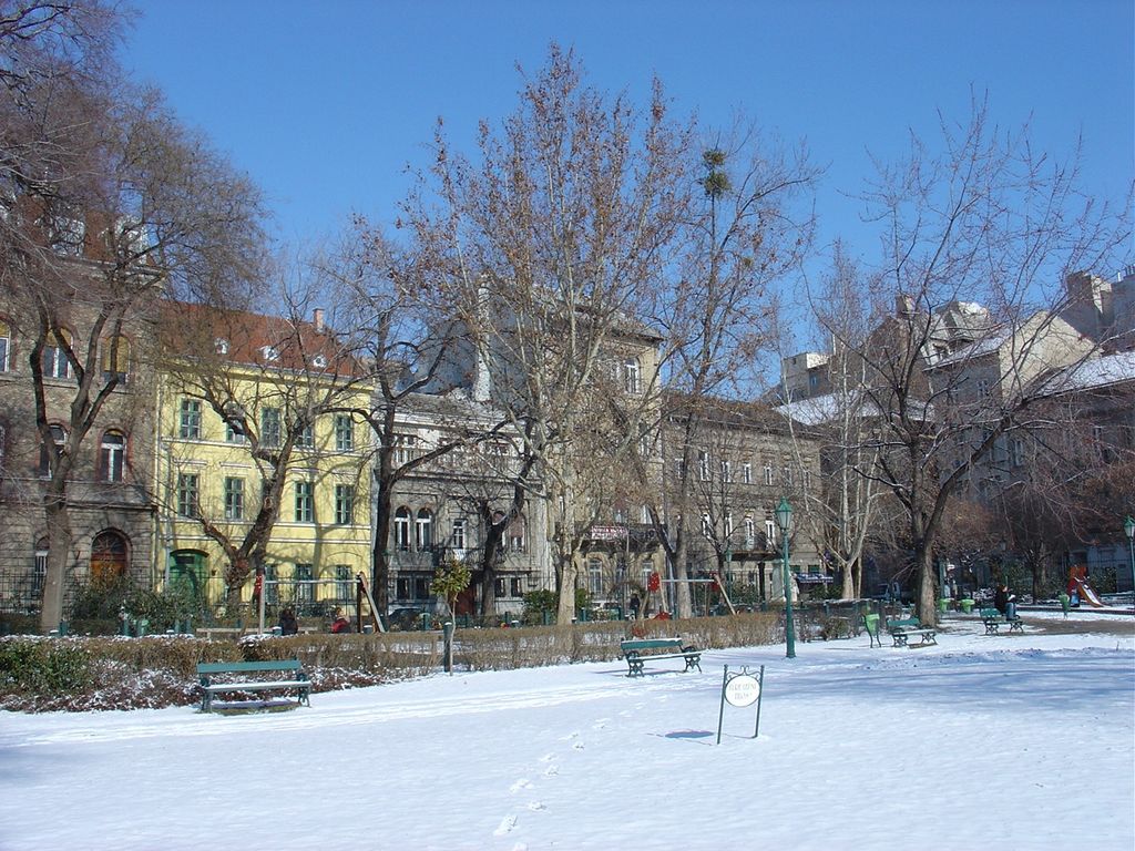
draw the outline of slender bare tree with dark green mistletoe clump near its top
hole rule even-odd
[[[686,201],[680,273],[657,290],[651,321],[666,338],[666,387],[676,391],[670,411],[681,423],[665,452],[680,461],[669,511],[651,516],[676,581],[676,612],[690,614],[687,584],[690,503],[696,491],[695,454],[705,444],[703,406],[711,399],[751,393],[751,370],[772,325],[771,285],[800,261],[812,242],[808,210],[794,205],[814,184],[816,169],[801,148],[738,125],[704,146],[687,171],[699,192]],[[695,178],[693,176],[697,175]],[[669,460],[669,458],[667,458]]]

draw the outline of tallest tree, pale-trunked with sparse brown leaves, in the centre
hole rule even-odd
[[[683,134],[656,85],[645,112],[583,85],[553,45],[477,162],[439,133],[428,203],[406,219],[462,293],[486,401],[522,440],[518,481],[548,505],[561,621],[571,617],[588,512],[570,452],[613,335],[664,271],[680,209]]]

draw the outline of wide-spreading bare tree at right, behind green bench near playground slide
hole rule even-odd
[[[964,126],[943,120],[940,153],[914,140],[864,201],[883,237],[861,293],[875,330],[856,342],[823,327],[863,362],[881,428],[860,472],[902,506],[919,616],[932,621],[950,498],[1028,428],[1039,377],[1095,353],[1060,319],[1057,289],[1073,270],[1113,262],[1128,226],[1077,193],[1075,160],[1037,155],[1027,132],[992,126],[985,103]]]

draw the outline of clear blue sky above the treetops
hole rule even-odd
[[[121,58],[161,86],[268,194],[283,241],[340,229],[352,211],[389,221],[443,117],[471,140],[516,103],[515,65],[573,47],[589,81],[645,101],[657,74],[705,126],[742,110],[806,138],[827,172],[821,239],[871,254],[856,192],[868,152],[902,153],[938,110],[964,121],[970,92],[1037,144],[1084,141],[1084,185],[1121,200],[1135,140],[1132,0],[799,2],[379,2],[134,0]],[[1112,270],[1101,270],[1112,271]]]

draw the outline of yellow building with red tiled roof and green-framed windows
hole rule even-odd
[[[353,604],[371,558],[359,361],[321,311],[308,322],[171,307],[154,487],[166,587],[244,606],[262,565],[270,617]]]

